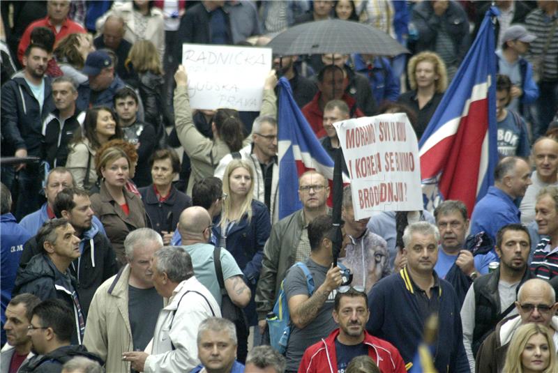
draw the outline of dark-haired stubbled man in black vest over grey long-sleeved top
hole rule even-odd
[[[475,356],[478,357],[478,349],[485,338],[504,317],[517,314],[513,303],[515,294],[521,284],[534,277],[527,267],[530,247],[531,238],[525,226],[504,225],[496,234],[499,268],[478,277],[467,291],[461,307],[461,321],[463,344],[472,372]]]

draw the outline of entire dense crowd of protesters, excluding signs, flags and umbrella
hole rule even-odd
[[[404,112],[421,139],[489,6],[2,1],[0,373],[558,372],[558,1],[495,1],[499,161],[473,211],[356,220],[345,185],[337,253],[309,170],[278,213],[278,78],[331,158],[349,118]],[[274,53],[259,112],[190,106],[183,43],[334,18],[410,53]]]

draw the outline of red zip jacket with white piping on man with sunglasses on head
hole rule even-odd
[[[302,356],[299,373],[337,373],[335,338],[339,329],[333,330],[324,340],[312,344]],[[375,361],[382,373],[406,373],[405,362],[393,344],[372,337],[364,330],[364,342],[368,345],[368,356]]]

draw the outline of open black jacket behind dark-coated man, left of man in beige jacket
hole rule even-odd
[[[108,238],[94,225],[84,232],[80,246],[82,256],[75,259],[68,269],[79,283],[77,295],[80,296],[82,312],[87,318],[95,291],[105,280],[118,273],[118,264]],[[36,236],[31,237],[23,246],[20,267],[25,268],[31,258],[40,252],[42,250],[38,248]]]

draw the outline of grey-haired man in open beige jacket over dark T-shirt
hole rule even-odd
[[[163,298],[149,266],[163,238],[153,229],[131,231],[124,241],[128,264],[98,287],[85,327],[84,345],[105,360],[107,372],[130,372],[126,351],[143,351],[155,330]]]

